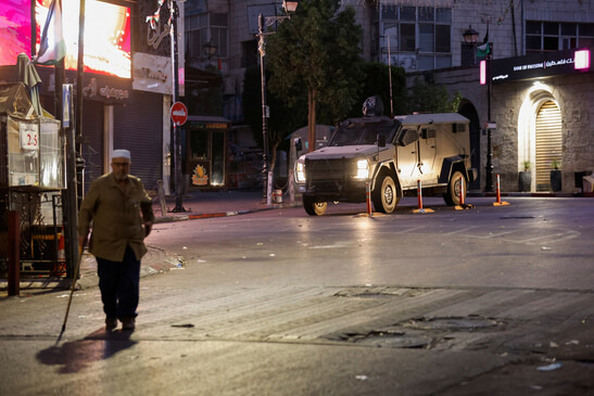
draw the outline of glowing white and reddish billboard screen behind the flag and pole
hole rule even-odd
[[[36,1],[37,49],[39,49],[51,0]],[[79,3],[79,0],[62,0],[63,34],[66,42],[64,64],[66,69],[71,71],[76,71],[78,63]],[[129,78],[130,9],[98,0],[87,0],[85,15],[85,72]]]

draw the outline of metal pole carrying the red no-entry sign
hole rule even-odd
[[[172,39],[172,67],[173,67],[173,103],[177,102],[179,98],[179,72],[177,61],[177,14],[178,8],[175,0],[169,0],[169,15],[172,17],[172,29],[169,31]],[[172,104],[173,104],[172,103]],[[173,123],[174,135],[174,177],[175,177],[175,207],[174,213],[186,212],[182,204],[182,181],[181,181],[181,144],[179,144],[178,129],[176,123]]]

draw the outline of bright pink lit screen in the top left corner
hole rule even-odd
[[[0,7],[0,66],[16,64],[16,56],[30,55],[31,0],[2,0]]]

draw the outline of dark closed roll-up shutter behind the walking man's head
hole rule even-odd
[[[130,103],[114,107],[114,149],[129,150],[130,174],[155,189],[163,169],[163,97],[135,91]]]

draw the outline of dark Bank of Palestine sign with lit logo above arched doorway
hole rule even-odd
[[[592,72],[590,49],[533,53],[493,60],[493,84]]]

